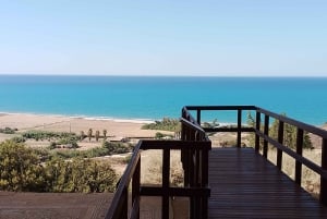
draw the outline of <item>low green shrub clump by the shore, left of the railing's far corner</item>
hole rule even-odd
[[[181,123],[178,119],[164,118],[162,121],[155,121],[155,123],[145,124],[142,126],[142,129],[180,132]]]

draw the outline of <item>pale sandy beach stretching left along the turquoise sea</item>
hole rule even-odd
[[[81,131],[87,133],[89,129],[95,131],[107,130],[107,135],[111,139],[123,137],[143,138],[153,137],[154,130],[142,130],[142,125],[148,121],[138,120],[114,120],[99,118],[73,118],[63,115],[29,114],[29,113],[1,113],[0,129],[17,129],[19,132],[28,130],[45,130],[53,132],[73,132],[80,134]],[[161,131],[160,131],[161,132]],[[165,132],[164,132],[165,133]],[[5,135],[0,135],[3,141]],[[2,138],[2,139],[1,139]]]

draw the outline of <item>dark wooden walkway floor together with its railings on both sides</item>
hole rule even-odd
[[[234,111],[237,123],[203,127],[204,111]],[[244,125],[245,112],[254,112],[253,125]],[[192,113],[195,112],[195,113]],[[195,115],[194,115],[195,114]],[[196,119],[194,119],[196,118]],[[277,136],[269,135],[271,119],[278,122]],[[184,107],[179,141],[141,141],[120,181],[106,219],[155,218],[140,214],[142,198],[161,198],[162,219],[177,218],[171,212],[175,197],[185,197],[187,214],[182,218],[327,218],[327,131],[267,111],[255,106]],[[287,142],[287,129],[295,127],[295,148]],[[208,133],[237,133],[235,147],[211,148]],[[253,147],[241,147],[242,134],[254,135]],[[303,156],[306,133],[320,141],[320,162]],[[277,151],[276,165],[267,159],[268,147]],[[162,150],[162,183],[141,183],[141,150]],[[180,150],[184,185],[170,183],[170,151]],[[281,170],[283,155],[294,161],[294,178]],[[302,167],[320,178],[318,199],[302,185]]]

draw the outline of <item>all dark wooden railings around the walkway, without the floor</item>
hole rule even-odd
[[[196,111],[196,119],[190,111]],[[231,127],[210,127],[201,126],[202,111],[233,110],[237,111],[238,123]],[[242,125],[242,112],[244,110],[255,111],[256,120],[253,127]],[[262,131],[262,114],[264,115],[264,131]],[[278,139],[269,136],[269,119],[279,121]],[[263,156],[267,157],[267,145],[270,144],[277,148],[277,167],[281,169],[282,153],[288,154],[296,162],[295,182],[301,184],[302,165],[320,175],[320,202],[327,205],[327,131],[313,125],[270,112],[255,106],[186,106],[182,108],[181,141],[140,141],[134,148],[133,156],[126,167],[118,185],[106,219],[140,219],[140,205],[142,196],[160,196],[161,216],[169,218],[169,196],[190,197],[190,218],[207,218],[207,205],[210,190],[208,187],[208,151],[211,148],[211,142],[206,132],[235,132],[238,137],[238,147],[241,147],[241,134],[252,132],[255,134],[255,150],[259,153],[261,139],[264,139]],[[283,145],[284,125],[290,124],[298,127],[296,151]],[[302,156],[303,133],[310,132],[322,137],[322,166],[308,160]],[[142,149],[161,149],[162,156],[162,184],[161,186],[146,186],[140,183],[141,178],[141,150]],[[169,183],[170,171],[170,150],[181,150],[181,159],[184,169],[184,187],[173,187]],[[132,185],[132,186],[131,186]],[[129,202],[132,187],[132,202]],[[131,205],[131,206],[129,206]],[[130,211],[130,215],[129,215]]]

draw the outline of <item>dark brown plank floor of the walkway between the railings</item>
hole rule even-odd
[[[252,148],[213,148],[208,218],[327,218],[327,207]]]

